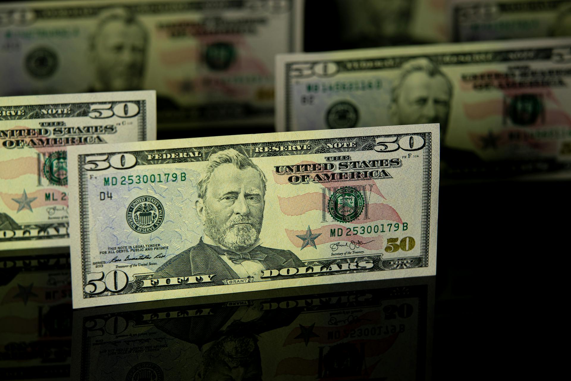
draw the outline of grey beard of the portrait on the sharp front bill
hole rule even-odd
[[[233,215],[225,224],[221,224],[208,213],[206,208],[204,214],[206,215],[204,234],[232,251],[247,251],[256,243],[262,231],[262,217]],[[249,225],[236,225],[237,223],[249,223]]]

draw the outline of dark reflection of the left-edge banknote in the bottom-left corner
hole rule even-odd
[[[69,377],[69,253],[0,258],[0,323],[0,379]]]

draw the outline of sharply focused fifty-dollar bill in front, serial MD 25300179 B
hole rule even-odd
[[[437,125],[70,149],[74,308],[436,271]]]

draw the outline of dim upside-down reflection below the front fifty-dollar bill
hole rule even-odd
[[[432,282],[413,281],[75,311],[74,379],[425,379]]]

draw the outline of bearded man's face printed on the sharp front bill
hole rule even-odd
[[[258,240],[264,217],[262,178],[254,168],[223,164],[212,172],[202,211],[204,234],[242,252]]]

